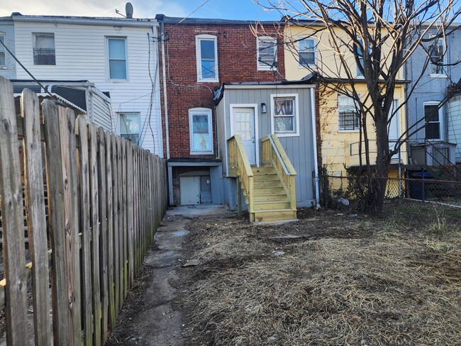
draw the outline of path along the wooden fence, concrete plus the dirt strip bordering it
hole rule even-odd
[[[228,215],[223,206],[179,207],[167,211],[143,268],[106,345],[188,345],[187,314],[177,305],[179,281],[190,264],[183,245],[192,218]]]

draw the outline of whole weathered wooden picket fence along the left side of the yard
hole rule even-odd
[[[43,101],[40,114],[37,96],[24,90],[16,116],[13,87],[0,78],[0,308],[9,345],[105,342],[165,213],[166,186],[165,160],[85,118],[75,121],[54,101]]]

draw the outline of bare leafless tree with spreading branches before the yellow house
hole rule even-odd
[[[323,89],[355,100],[360,118],[360,165],[365,168],[367,180],[366,188],[362,189],[364,206],[369,212],[381,213],[391,157],[399,152],[409,135],[424,126],[421,121],[407,128],[395,145],[389,147],[389,125],[406,103],[404,100],[399,107],[393,107],[399,76],[418,47],[426,52],[426,62],[417,80],[413,81],[413,88],[429,64],[443,65],[445,52],[434,54],[434,50],[438,48],[438,40],[445,40],[453,30],[460,16],[459,0],[253,1],[266,9],[279,11],[285,26],[309,29],[306,30],[308,37],[328,35],[329,46],[323,45],[317,51],[325,54],[329,50],[335,57],[335,64],[323,64],[320,55],[315,66],[306,64],[306,68],[318,74]],[[285,47],[302,62],[295,44],[296,38],[286,37]],[[355,64],[351,64],[348,57],[352,57]],[[356,67],[363,77],[362,83],[366,84],[365,95],[360,95],[356,88]],[[407,96],[411,92],[409,90]],[[376,131],[376,162],[370,160],[370,128]],[[362,162],[362,151],[365,162]]]

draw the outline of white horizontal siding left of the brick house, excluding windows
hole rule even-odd
[[[34,65],[31,54],[32,33],[51,30],[55,32],[57,64]],[[99,90],[109,91],[113,111],[112,130],[119,125],[115,112],[139,112],[143,130],[140,146],[162,156],[159,81],[154,78],[152,88],[149,77],[149,71],[153,74],[157,65],[157,43],[152,40],[152,36],[156,37],[155,30],[152,33],[149,27],[120,27],[113,24],[94,26],[60,23],[55,26],[54,23],[17,21],[14,30],[16,56],[37,79],[88,80]],[[107,74],[106,39],[121,35],[126,38],[129,72],[129,80],[124,81],[108,79]],[[16,78],[30,79],[30,76],[18,67]]]

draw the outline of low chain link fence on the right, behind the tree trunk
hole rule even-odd
[[[340,212],[363,211],[366,178],[320,176],[321,206]],[[421,173],[413,178],[388,178],[384,200],[384,216],[397,221],[443,223],[461,228],[461,182],[431,179]]]

